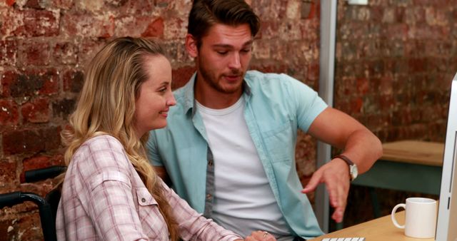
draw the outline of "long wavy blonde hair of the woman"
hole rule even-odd
[[[103,134],[117,138],[124,145],[126,155],[146,188],[158,202],[171,240],[178,240],[178,226],[171,207],[146,157],[145,144],[149,134],[138,138],[134,128],[135,101],[139,97],[141,83],[147,79],[144,59],[145,56],[158,55],[165,56],[164,49],[149,39],[124,37],[104,46],[89,64],[76,110],[69,118],[69,128],[62,130],[61,138],[67,147],[64,155],[66,165],[87,139]]]

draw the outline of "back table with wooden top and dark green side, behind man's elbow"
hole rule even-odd
[[[439,195],[443,143],[401,140],[383,144],[383,156],[353,185]]]

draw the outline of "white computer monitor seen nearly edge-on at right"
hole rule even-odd
[[[451,84],[436,241],[457,241],[457,73]]]

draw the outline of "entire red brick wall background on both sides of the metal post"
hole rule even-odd
[[[0,0],[0,193],[44,195],[51,180],[21,184],[24,170],[61,163],[66,125],[84,66],[116,36],[162,39],[174,88],[193,73],[183,46],[190,0]],[[335,105],[381,140],[443,140],[447,88],[456,71],[457,3],[338,3]],[[252,68],[318,85],[319,1],[248,0],[263,21]],[[315,142],[298,136],[303,182]],[[311,197],[312,198],[312,197]],[[0,210],[0,240],[37,240],[31,203]]]

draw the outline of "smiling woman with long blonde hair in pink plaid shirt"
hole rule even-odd
[[[96,54],[62,131],[59,240],[241,239],[192,210],[149,165],[148,132],[166,125],[175,103],[171,66],[156,42],[115,39]]]

